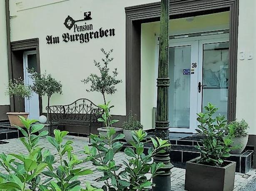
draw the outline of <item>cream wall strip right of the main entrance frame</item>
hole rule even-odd
[[[256,135],[256,1],[240,0],[238,52],[245,53],[245,59],[237,61],[236,118],[244,118],[250,126],[249,134]],[[253,56],[248,60],[248,56]]]

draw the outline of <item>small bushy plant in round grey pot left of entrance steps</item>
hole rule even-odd
[[[139,129],[143,129],[143,126],[139,121],[137,121],[136,114],[132,115],[132,112],[130,111],[127,121],[124,121],[123,123],[123,129],[126,142],[131,144],[131,141],[133,140],[132,131],[138,131]]]

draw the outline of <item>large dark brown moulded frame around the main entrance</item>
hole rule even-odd
[[[141,24],[160,20],[160,2],[126,7],[126,113],[140,119]],[[228,118],[236,118],[238,0],[170,0],[170,19],[230,11]]]

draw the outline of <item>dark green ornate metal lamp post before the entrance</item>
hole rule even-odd
[[[159,65],[157,78],[157,117],[156,136],[169,140],[169,0],[161,1]],[[154,157],[155,162],[163,162],[165,167],[158,176],[154,177],[153,191],[171,190],[171,168],[169,152],[159,153]]]

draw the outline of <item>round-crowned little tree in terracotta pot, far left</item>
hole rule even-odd
[[[10,97],[17,97],[18,99],[17,112],[6,113],[9,118],[11,126],[23,126],[19,116],[27,118],[29,113],[20,112],[20,101],[22,98],[30,99],[32,96],[32,90],[28,85],[24,84],[24,80],[22,79],[22,77],[19,77],[18,79],[13,79],[13,81],[9,81],[6,94],[10,95]]]

